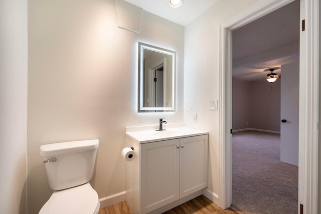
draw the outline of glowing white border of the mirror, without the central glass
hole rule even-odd
[[[166,54],[172,58],[172,100],[171,106],[169,107],[144,107],[143,106],[143,73],[144,73],[144,49]],[[165,60],[165,59],[164,59]],[[166,65],[164,65],[166,66]],[[173,112],[175,111],[175,74],[176,74],[176,52],[170,51],[164,48],[159,48],[152,45],[147,45],[141,42],[138,42],[138,72],[139,72],[139,84],[138,84],[138,112],[154,112],[154,111],[166,111]],[[165,73],[165,75],[167,75]],[[166,88],[164,89],[166,90]]]

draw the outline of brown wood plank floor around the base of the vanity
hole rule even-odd
[[[114,205],[102,208],[99,214],[131,214],[126,201],[116,203]],[[200,195],[186,203],[183,203],[173,209],[170,209],[164,214],[240,214],[242,212],[234,211],[233,209],[221,209],[210,201],[204,195]]]

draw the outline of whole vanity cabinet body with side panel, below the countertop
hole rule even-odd
[[[165,211],[200,195],[208,185],[207,133],[157,140],[126,138],[138,154],[126,164],[126,200],[135,214]]]

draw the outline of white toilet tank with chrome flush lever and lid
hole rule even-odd
[[[87,183],[93,174],[99,140],[81,140],[40,146],[49,186],[53,190]]]

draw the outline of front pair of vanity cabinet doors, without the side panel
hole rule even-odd
[[[141,144],[140,167],[141,213],[201,190],[208,183],[208,135]]]

